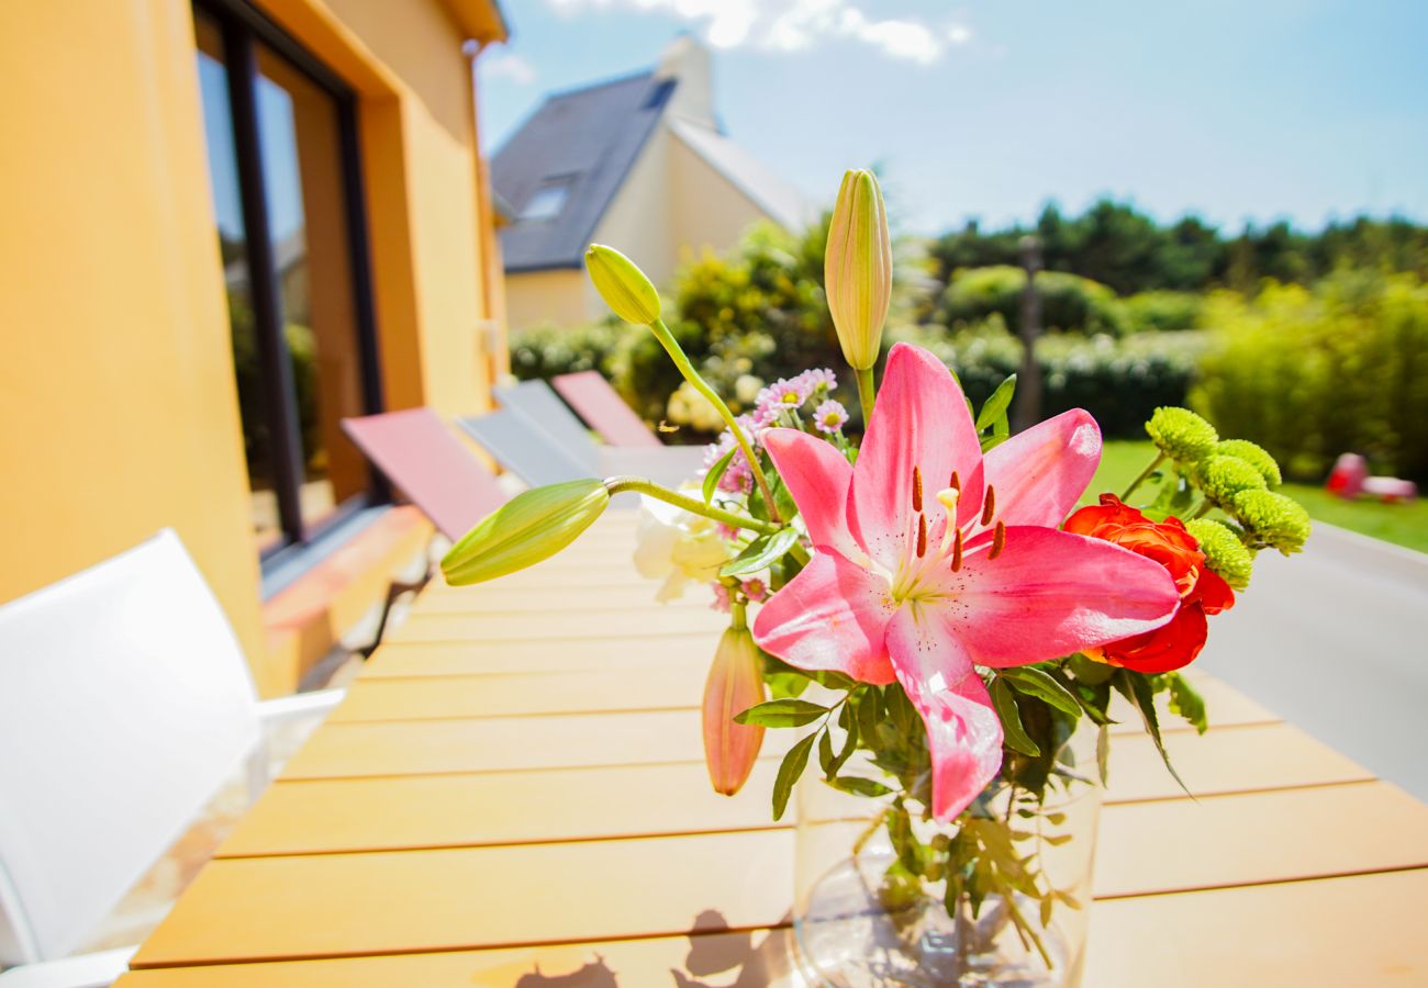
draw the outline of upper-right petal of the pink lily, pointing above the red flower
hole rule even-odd
[[[1101,427],[1081,408],[1012,435],[985,458],[997,517],[1008,527],[1060,525],[1100,463]]]

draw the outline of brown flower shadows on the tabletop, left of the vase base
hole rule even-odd
[[[700,932],[690,934],[683,967],[670,968],[675,988],[765,988],[788,972],[788,929],[758,931],[755,942],[754,932],[730,929],[715,909],[701,912],[693,925]],[[516,988],[621,988],[621,982],[605,958],[594,954],[570,974],[548,975],[537,967]]]

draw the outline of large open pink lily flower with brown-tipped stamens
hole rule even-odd
[[[1085,411],[984,457],[947,367],[900,343],[855,467],[797,430],[763,440],[815,553],[763,607],[754,638],[798,668],[901,682],[927,727],[938,820],[1001,768],[1001,721],[977,665],[1057,658],[1175,614],[1165,567],[1057,530],[1101,460]]]

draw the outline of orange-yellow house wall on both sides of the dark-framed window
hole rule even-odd
[[[451,13],[480,4],[260,6],[358,94],[387,405],[486,407],[500,300]],[[260,690],[290,690],[263,650],[188,0],[0,3],[0,601],[173,525]]]

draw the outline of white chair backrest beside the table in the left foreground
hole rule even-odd
[[[0,607],[0,965],[73,952],[258,741],[171,530]]]

